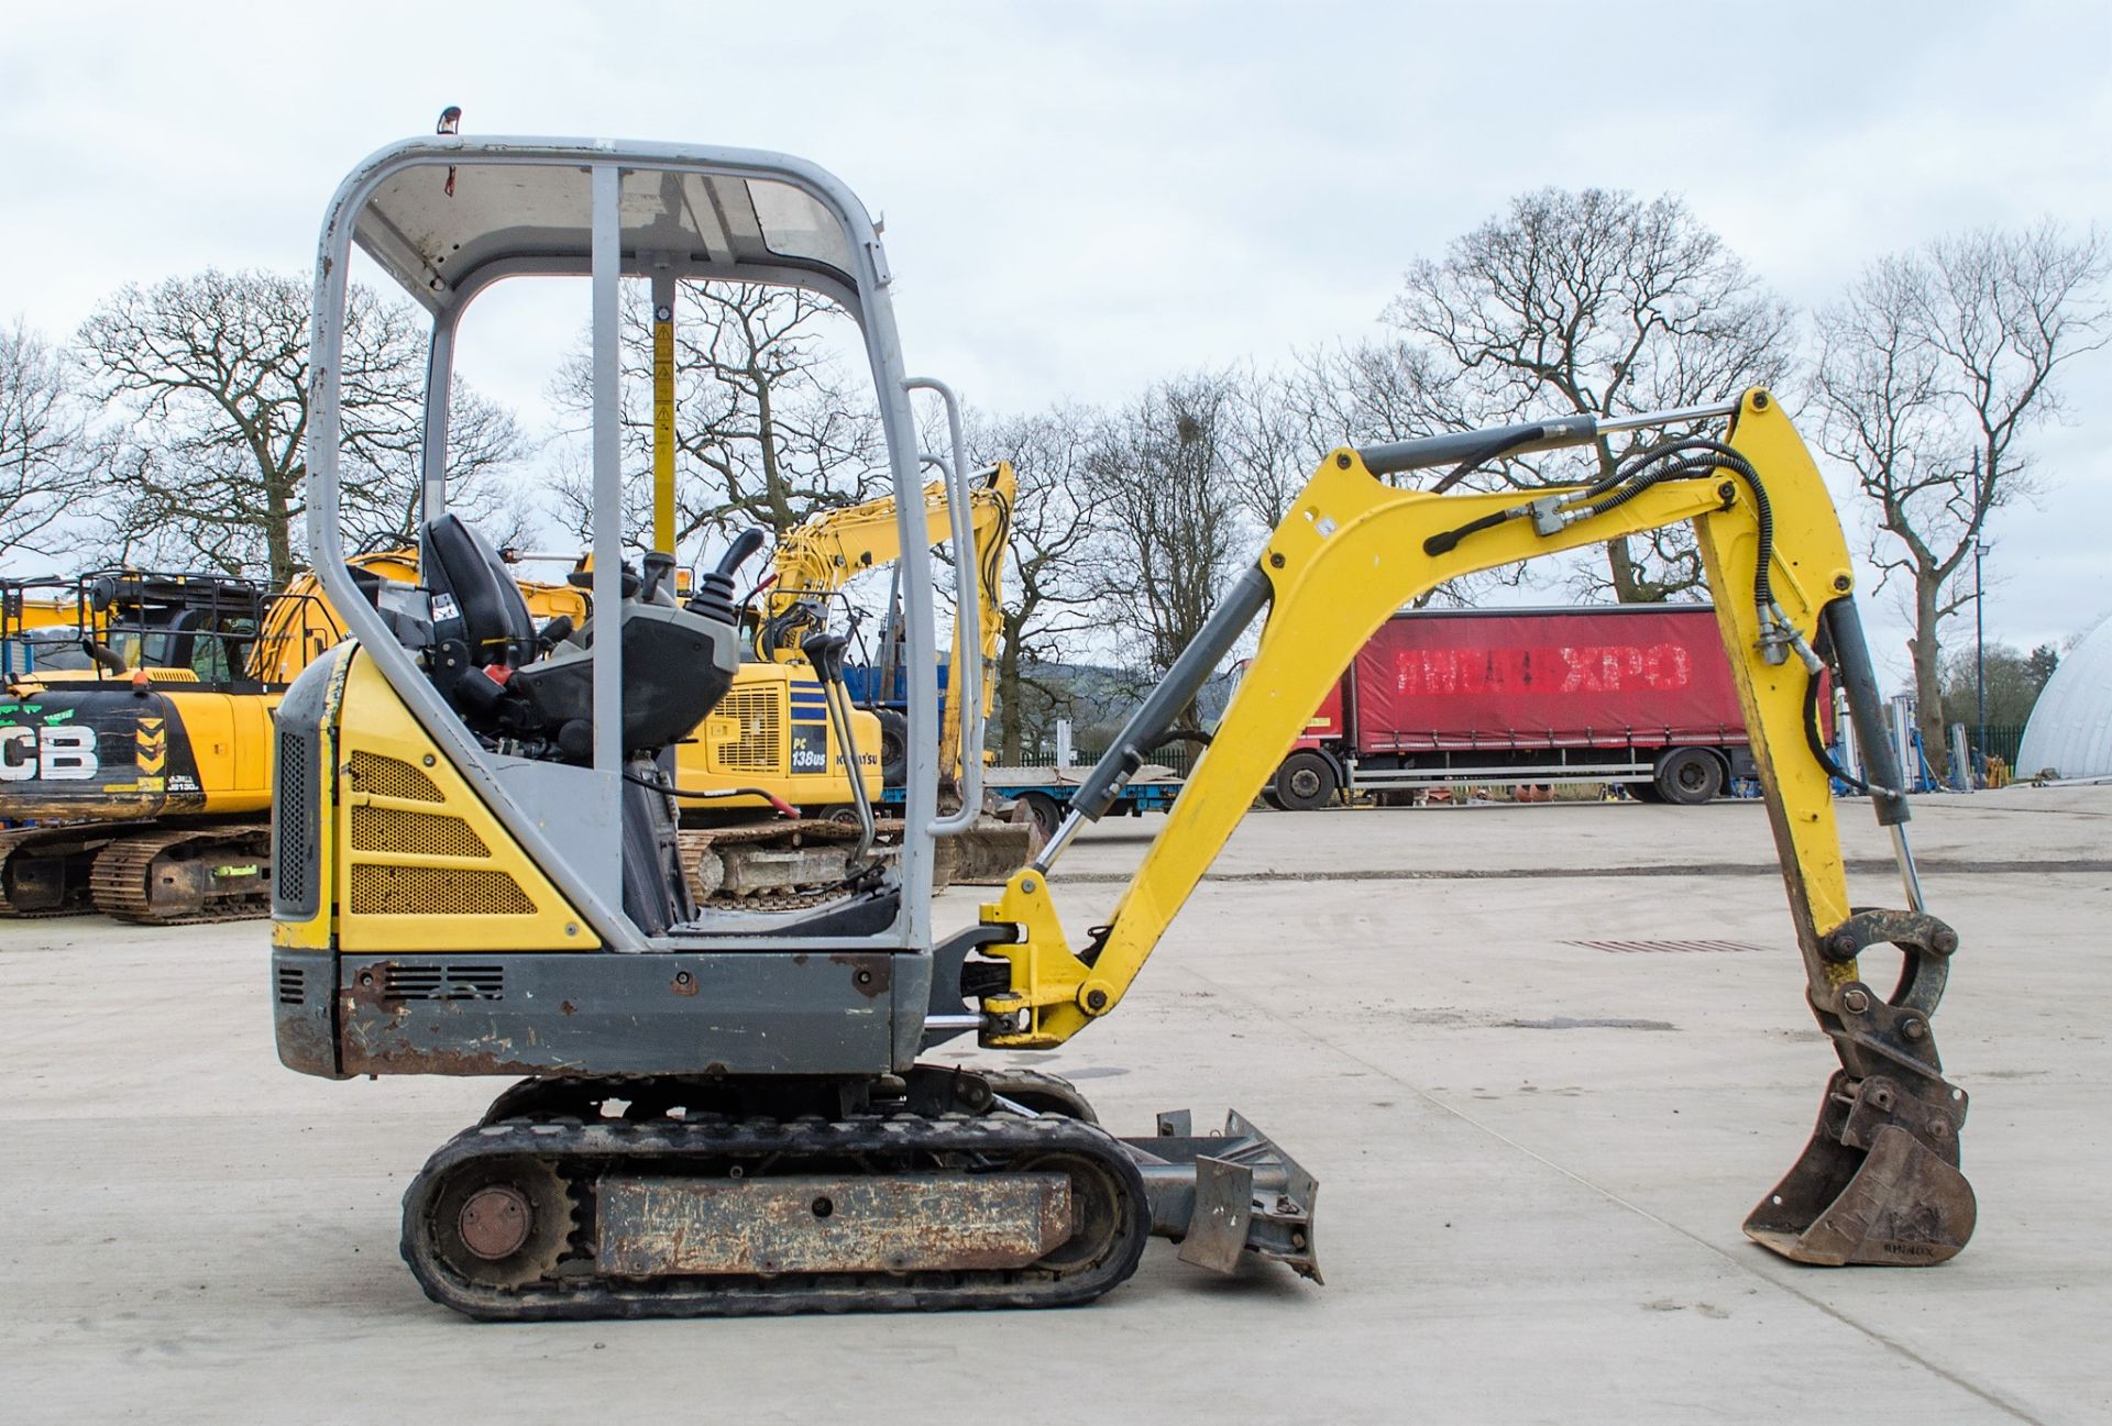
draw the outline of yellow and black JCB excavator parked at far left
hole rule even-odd
[[[370,597],[418,578],[410,553],[359,555],[353,572]],[[0,645],[21,660],[0,692],[0,916],[264,916],[272,711],[344,637],[315,576],[277,595],[142,570],[36,589],[0,605]],[[585,620],[572,589],[524,595],[543,618]]]

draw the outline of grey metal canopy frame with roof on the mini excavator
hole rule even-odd
[[[874,378],[887,466],[900,498],[904,662],[917,683],[908,719],[906,823],[900,913],[881,937],[927,947],[931,837],[953,831],[938,816],[938,690],[931,557],[917,492],[925,460],[917,449],[910,390],[950,392],[904,375],[889,272],[879,230],[864,205],[824,169],[781,154],[610,139],[460,137],[412,139],[380,150],[340,186],[323,226],[315,304],[315,411],[310,546],[332,603],[414,717],[479,789],[501,823],[549,871],[604,945],[648,949],[665,937],[642,932],[621,909],[621,795],[627,749],[625,698],[655,696],[661,671],[625,675],[625,639],[593,641],[591,755],[572,764],[524,762],[479,745],[448,700],[422,677],[380,614],[344,574],[338,519],[338,369],[353,249],[380,266],[433,321],[420,460],[425,527],[448,515],[448,394],[456,327],[477,293],[505,278],[587,278],[591,319],[591,599],[623,608],[623,546],[642,532],[623,527],[621,464],[623,281],[653,285],[657,321],[672,321],[676,283],[718,281],[798,287],[841,306],[860,327]],[[965,523],[965,458],[959,413],[955,449],[938,460],[963,481],[957,538]],[[672,553],[672,551],[670,551]],[[433,567],[427,561],[425,567]],[[648,660],[650,662],[650,660]],[[579,766],[585,764],[585,766]],[[733,928],[691,928],[733,949]]]

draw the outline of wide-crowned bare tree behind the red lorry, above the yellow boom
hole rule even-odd
[[[1383,314],[1407,352],[1369,371],[1447,426],[1677,409],[1791,371],[1789,306],[1673,196],[1544,188],[1409,268]],[[1385,384],[1379,390],[1388,390]],[[1415,416],[1421,422],[1421,413]],[[1529,485],[1609,475],[1662,432],[1506,462]],[[1683,527],[1605,546],[1588,586],[1649,603],[1702,584]]]

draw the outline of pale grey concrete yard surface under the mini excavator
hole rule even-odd
[[[1842,823],[1856,901],[1899,905],[1867,804]],[[1058,867],[1073,934],[1159,827]],[[1240,1110],[1320,1179],[1326,1287],[1155,1242],[1050,1312],[460,1321],[399,1200],[503,1082],[281,1070],[260,924],[0,922],[0,1418],[2112,1420],[2112,789],[1918,799],[1913,833],[1962,941],[1935,1032],[1981,1219],[1951,1264],[1799,1268],[1738,1230],[1833,1067],[1757,804],[1257,812],[1115,1015],[936,1057],[1073,1076],[1115,1133]]]

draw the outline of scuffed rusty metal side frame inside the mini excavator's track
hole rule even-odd
[[[606,1179],[596,1257],[615,1276],[1024,1268],[1071,1236],[1062,1173]]]

